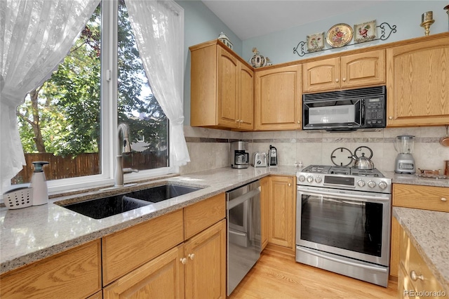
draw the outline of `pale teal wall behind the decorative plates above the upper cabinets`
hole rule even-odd
[[[346,1],[340,2],[342,5],[346,5]],[[318,20],[319,12],[316,12],[316,22],[244,40],[242,58],[248,61],[253,56],[251,50],[255,47],[261,55],[267,56],[273,64],[276,65],[278,63],[301,60],[319,55],[328,55],[330,53],[348,51],[355,48],[387,44],[403,39],[413,39],[415,37],[424,36],[424,28],[420,27],[420,24],[421,15],[426,11],[433,11],[434,13],[435,22],[430,27],[430,34],[447,32],[448,15],[443,8],[448,5],[448,3],[447,0],[380,1],[370,8],[364,8],[360,11],[351,11],[323,20]],[[307,35],[324,32],[326,36],[328,29],[335,24],[346,23],[354,28],[354,24],[361,24],[372,20],[376,20],[377,25],[380,25],[382,22],[396,25],[397,32],[391,34],[386,41],[370,41],[363,44],[356,44],[355,46],[333,48],[327,51],[307,54],[303,57],[293,53],[293,48],[295,48],[300,41],[306,41]],[[380,29],[377,29],[377,36],[380,36],[380,34]],[[349,44],[354,44],[354,41],[351,41]],[[329,48],[329,46],[326,45],[325,48]],[[307,51],[307,46],[304,47],[304,49]]]

